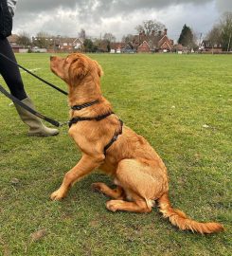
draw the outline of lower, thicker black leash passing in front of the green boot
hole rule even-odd
[[[22,101],[19,101],[17,98],[15,98],[14,96],[12,96],[11,94],[9,94],[8,91],[6,91],[3,86],[0,84],[0,92],[2,92],[5,96],[7,96],[11,101],[15,102],[16,104],[22,106],[23,108],[25,108],[28,112],[30,112],[31,114],[35,115],[36,117],[40,118],[40,119],[44,119],[45,121],[51,123],[52,125],[55,125],[57,127],[60,127],[61,124],[59,121],[54,120],[54,119],[50,119],[45,117],[43,114],[35,111],[34,109],[30,108],[29,106],[27,106],[27,104],[23,103]]]

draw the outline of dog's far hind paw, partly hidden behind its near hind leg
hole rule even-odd
[[[116,189],[111,189],[109,188],[106,184],[104,184],[103,182],[97,182],[97,183],[93,183],[92,184],[92,189],[98,191],[98,192],[102,192],[105,195],[112,197],[114,199],[122,199],[123,198],[123,194],[124,191],[120,186],[117,186]]]

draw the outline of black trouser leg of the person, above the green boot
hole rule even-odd
[[[7,38],[0,38],[0,52],[16,62],[14,53]],[[19,68],[16,64],[11,64],[8,60],[0,56],[0,74],[9,86],[10,93],[20,101],[27,98]]]

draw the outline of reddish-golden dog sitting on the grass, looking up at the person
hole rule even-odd
[[[116,189],[104,183],[92,186],[113,198],[108,210],[150,212],[154,201],[170,222],[179,229],[200,233],[223,230],[218,223],[199,223],[170,205],[169,183],[162,159],[149,142],[138,136],[112,112],[112,106],[101,94],[102,70],[96,61],[74,53],[66,58],[51,57],[51,70],[68,85],[68,101],[72,108],[69,135],[79,146],[82,157],[64,175],[62,186],[51,194],[62,199],[69,188],[96,168],[114,177]]]

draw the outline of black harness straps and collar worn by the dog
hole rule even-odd
[[[92,106],[92,105],[94,105],[96,103],[98,103],[98,100],[97,101],[88,102],[88,103],[84,103],[82,105],[74,105],[74,106],[71,107],[71,109],[73,109],[73,110],[80,110],[80,109],[83,109],[85,107]],[[108,112],[108,113],[106,113],[104,115],[100,115],[100,116],[93,117],[93,118],[75,117],[75,118],[70,119],[68,121],[68,126],[70,128],[72,126],[72,124],[77,123],[79,121],[84,121],[84,120],[96,120],[96,121],[99,121],[99,120],[102,120],[102,119],[105,119],[105,118],[109,117],[112,114],[115,114],[115,113],[110,111],[110,112]],[[122,134],[123,121],[121,119],[118,119],[118,120],[119,120],[119,123],[120,123],[119,132],[115,132],[115,134],[112,137],[112,139],[110,140],[110,142],[108,144],[106,144],[106,146],[104,147],[104,155],[106,155],[107,149],[116,141],[117,137]]]

